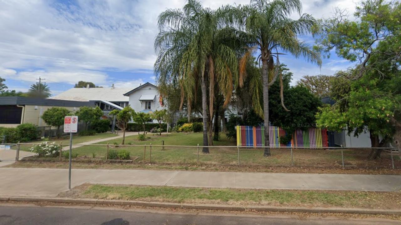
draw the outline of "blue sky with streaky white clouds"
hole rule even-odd
[[[249,0],[203,0],[213,9]],[[132,87],[155,83],[153,43],[157,17],[185,0],[0,0],[0,77],[11,90],[27,91],[45,80],[53,95],[79,80],[98,86]],[[352,0],[302,0],[303,12],[330,17],[335,7],[352,14]],[[298,14],[291,18],[299,18]],[[311,36],[300,36],[311,46]],[[280,56],[294,73],[292,84],[304,75],[332,75],[352,64],[335,54],[322,67],[303,58]]]

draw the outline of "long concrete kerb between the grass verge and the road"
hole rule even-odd
[[[165,202],[124,201],[107,199],[71,199],[57,197],[21,197],[0,196],[0,201],[24,201],[24,202],[53,202],[53,203],[76,203],[92,205],[133,205],[144,207],[180,208],[180,209],[203,209],[223,211],[259,211],[259,212],[292,212],[292,213],[349,213],[349,214],[379,214],[379,215],[401,215],[400,209],[360,209],[360,208],[323,208],[323,207],[275,207],[275,206],[235,206],[215,204],[180,204]]]

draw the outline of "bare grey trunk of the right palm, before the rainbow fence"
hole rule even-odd
[[[263,54],[263,52],[262,52]],[[262,80],[263,80],[263,119],[265,128],[265,147],[269,147],[269,72],[267,59],[262,57]],[[265,148],[263,156],[270,156],[270,149]]]

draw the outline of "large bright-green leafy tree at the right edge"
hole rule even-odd
[[[318,124],[355,135],[368,129],[372,147],[383,147],[401,130],[401,5],[368,0],[356,8],[356,20],[342,12],[322,21],[316,48],[326,56],[335,49],[356,66],[338,73],[336,104],[322,108]],[[370,158],[380,153],[373,149]]]

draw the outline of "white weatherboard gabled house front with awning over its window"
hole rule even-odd
[[[163,104],[157,86],[149,82],[138,86],[124,94],[128,96],[128,104],[135,112],[153,113],[166,108]],[[153,121],[157,123],[157,121]]]

